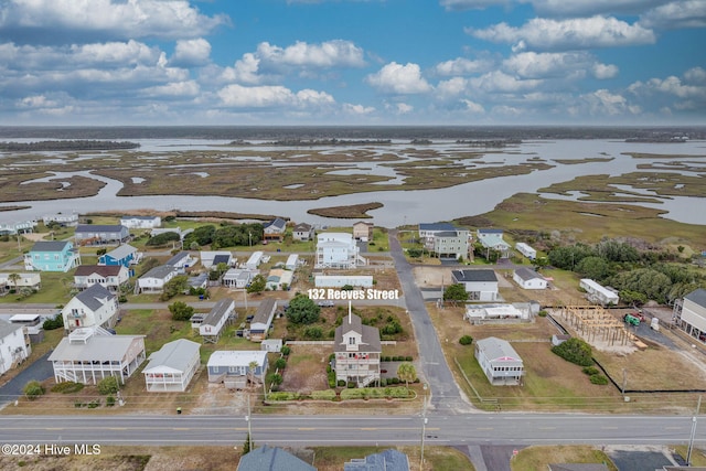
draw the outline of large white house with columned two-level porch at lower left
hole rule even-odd
[[[99,327],[76,329],[62,339],[49,361],[56,383],[98,384],[115,376],[125,384],[145,361],[145,335],[113,335]]]

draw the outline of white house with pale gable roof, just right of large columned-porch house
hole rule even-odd
[[[186,339],[165,343],[142,370],[149,393],[183,393],[201,364],[201,344]]]

